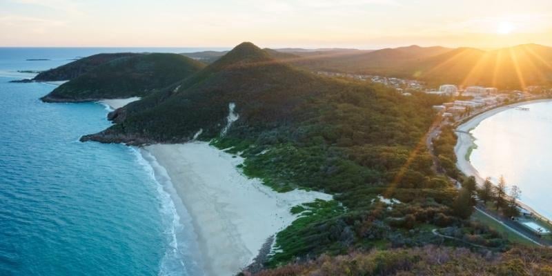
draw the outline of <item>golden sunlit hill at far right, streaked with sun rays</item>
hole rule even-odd
[[[402,75],[431,83],[522,89],[552,83],[552,48],[535,44],[477,50],[458,48],[405,66]]]

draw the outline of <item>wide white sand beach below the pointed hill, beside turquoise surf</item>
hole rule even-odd
[[[295,220],[291,207],[332,199],[304,190],[276,193],[259,179],[242,175],[236,167],[242,157],[206,142],[156,144],[144,150],[166,169],[192,217],[206,275],[235,275],[268,237]]]

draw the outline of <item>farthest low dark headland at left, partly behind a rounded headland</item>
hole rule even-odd
[[[136,55],[131,52],[119,52],[115,54],[98,54],[92,55],[90,57],[83,57],[76,61],[72,61],[58,68],[46,70],[40,72],[37,77],[32,79],[33,81],[68,81],[70,79],[75,79],[80,75],[85,74],[86,72],[100,66],[103,63],[107,63],[114,59],[119,59],[121,57],[133,57]]]

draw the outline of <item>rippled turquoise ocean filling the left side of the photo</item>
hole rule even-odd
[[[0,275],[202,274],[189,218],[155,163],[79,142],[110,126],[106,106],[42,103],[56,86],[8,82],[99,52],[197,50],[212,49],[0,48]]]

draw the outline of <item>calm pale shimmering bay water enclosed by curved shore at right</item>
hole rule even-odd
[[[552,219],[552,101],[509,109],[472,130],[477,144],[470,160],[482,177],[504,175],[522,190],[522,201]]]

